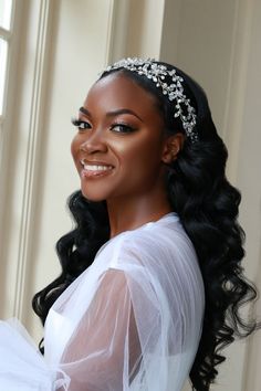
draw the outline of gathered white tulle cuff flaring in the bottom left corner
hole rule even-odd
[[[70,377],[49,366],[17,318],[0,321],[0,390],[67,391]]]

